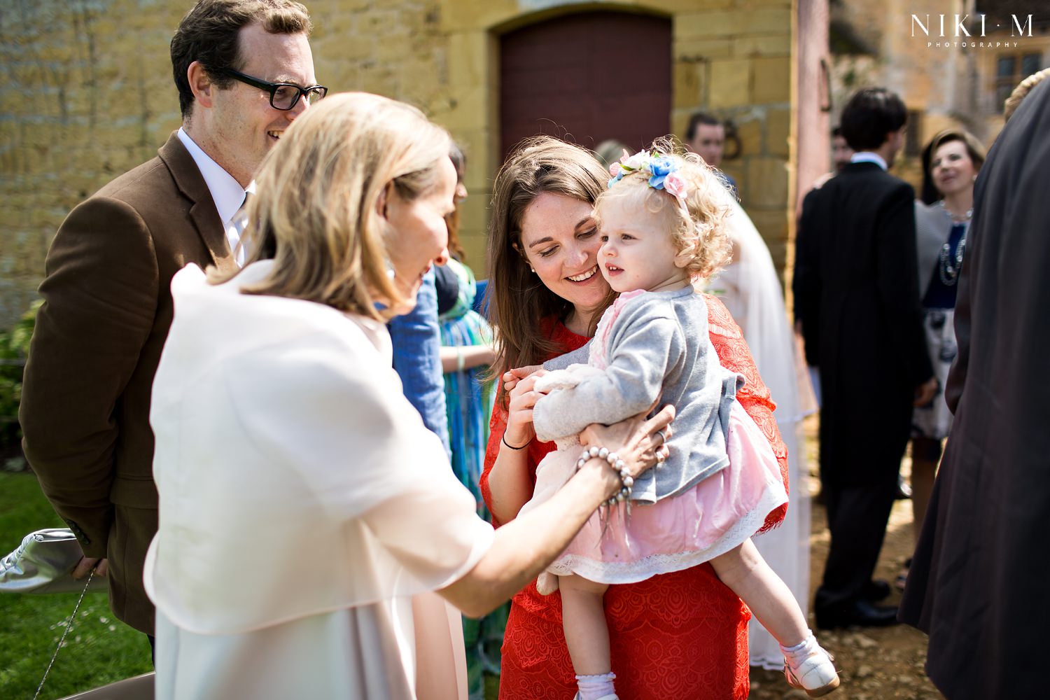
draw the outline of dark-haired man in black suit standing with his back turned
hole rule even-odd
[[[872,581],[914,405],[933,397],[916,271],[915,192],[886,169],[907,111],[865,88],[842,111],[849,165],[802,207],[794,290],[808,364],[820,370],[820,476],[832,543],[817,625],[892,624]]]

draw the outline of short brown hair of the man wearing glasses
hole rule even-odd
[[[200,61],[216,87],[229,87],[233,79],[224,71],[244,66],[240,30],[254,22],[270,34],[309,35],[313,28],[307,8],[293,0],[201,0],[186,13],[171,38],[171,71],[184,120],[193,110],[186,76],[190,64]]]

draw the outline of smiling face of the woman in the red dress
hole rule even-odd
[[[525,259],[547,289],[573,305],[566,325],[586,327],[609,287],[597,274],[594,208],[583,199],[544,192],[522,214]]]

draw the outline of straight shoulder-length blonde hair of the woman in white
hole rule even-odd
[[[255,177],[249,262],[273,258],[274,267],[244,292],[382,320],[376,302],[406,301],[386,274],[383,198],[396,192],[412,200],[434,188],[449,145],[444,129],[402,102],[346,92],[312,105]]]

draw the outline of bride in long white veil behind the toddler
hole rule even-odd
[[[779,528],[756,537],[755,546],[788,584],[805,614],[810,597],[810,493],[801,421],[816,410],[816,400],[798,361],[770,251],[736,198],[729,194],[727,198],[732,207],[726,224],[733,240],[733,262],[709,281],[708,291],[718,296],[743,331],[762,381],[777,405],[774,416],[788,446],[788,516]],[[754,618],[748,637],[751,665],[783,669],[780,645]]]

